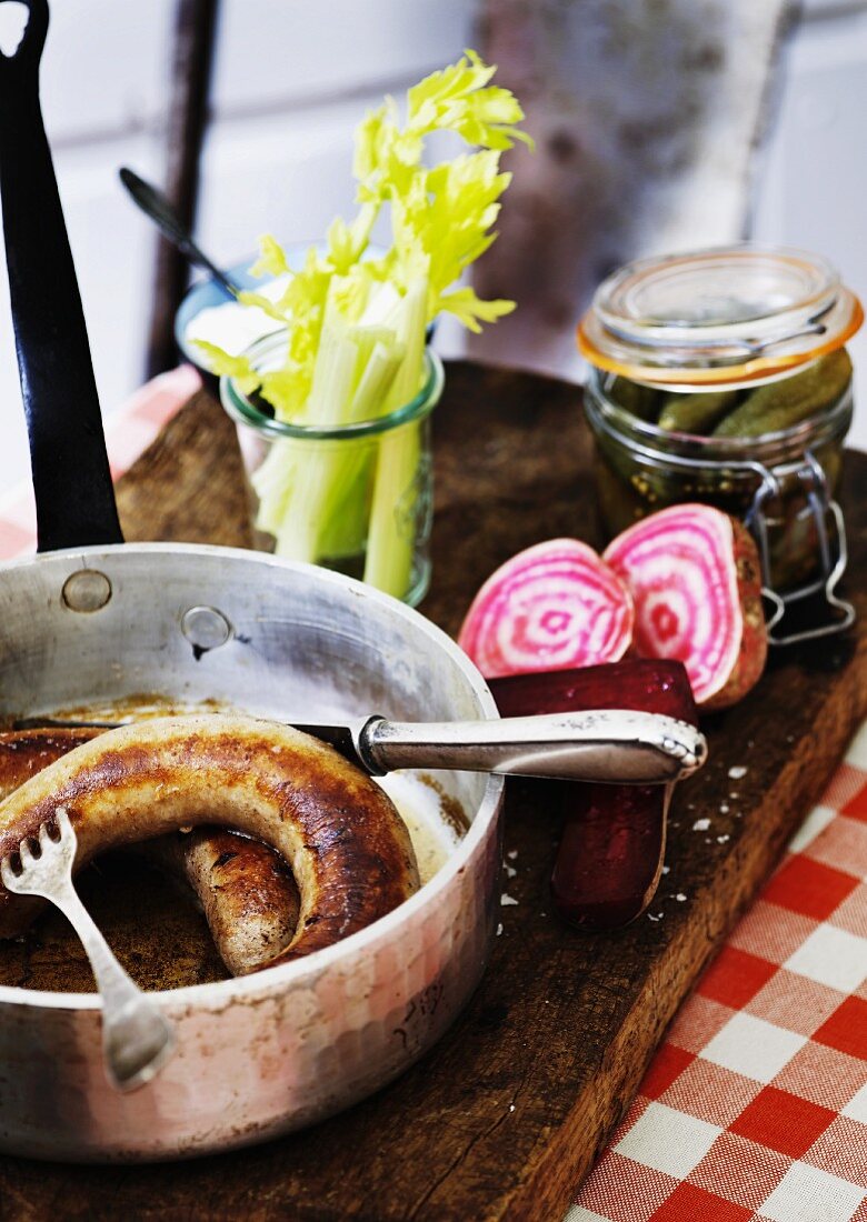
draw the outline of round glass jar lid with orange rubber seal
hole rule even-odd
[[[752,243],[642,259],[597,290],[581,354],[651,384],[767,380],[843,347],[858,298],[819,255]]]

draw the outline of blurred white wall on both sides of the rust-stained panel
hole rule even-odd
[[[224,0],[199,237],[226,263],[271,230],[351,210],[351,133],[368,105],[474,42],[476,0]],[[116,180],[160,180],[172,0],[54,0],[43,105],[103,407],[142,378],[153,232]],[[867,296],[867,0],[807,0],[757,181],[754,235],[829,255]],[[867,335],[852,346],[867,447]],[[0,273],[0,496],[28,474]]]

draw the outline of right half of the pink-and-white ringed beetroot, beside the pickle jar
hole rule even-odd
[[[746,695],[768,642],[758,552],[740,522],[708,505],[673,505],[624,530],[604,558],[632,594],[642,657],[681,661],[704,709]]]

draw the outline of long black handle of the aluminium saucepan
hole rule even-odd
[[[0,53],[0,199],[39,551],[122,543],[76,270],[39,106],[48,0]]]

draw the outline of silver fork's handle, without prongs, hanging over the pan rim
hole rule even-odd
[[[136,1090],[154,1077],[175,1046],[171,1023],[120,965],[70,882],[50,899],[78,935],[103,998],[103,1047],[111,1084]]]

